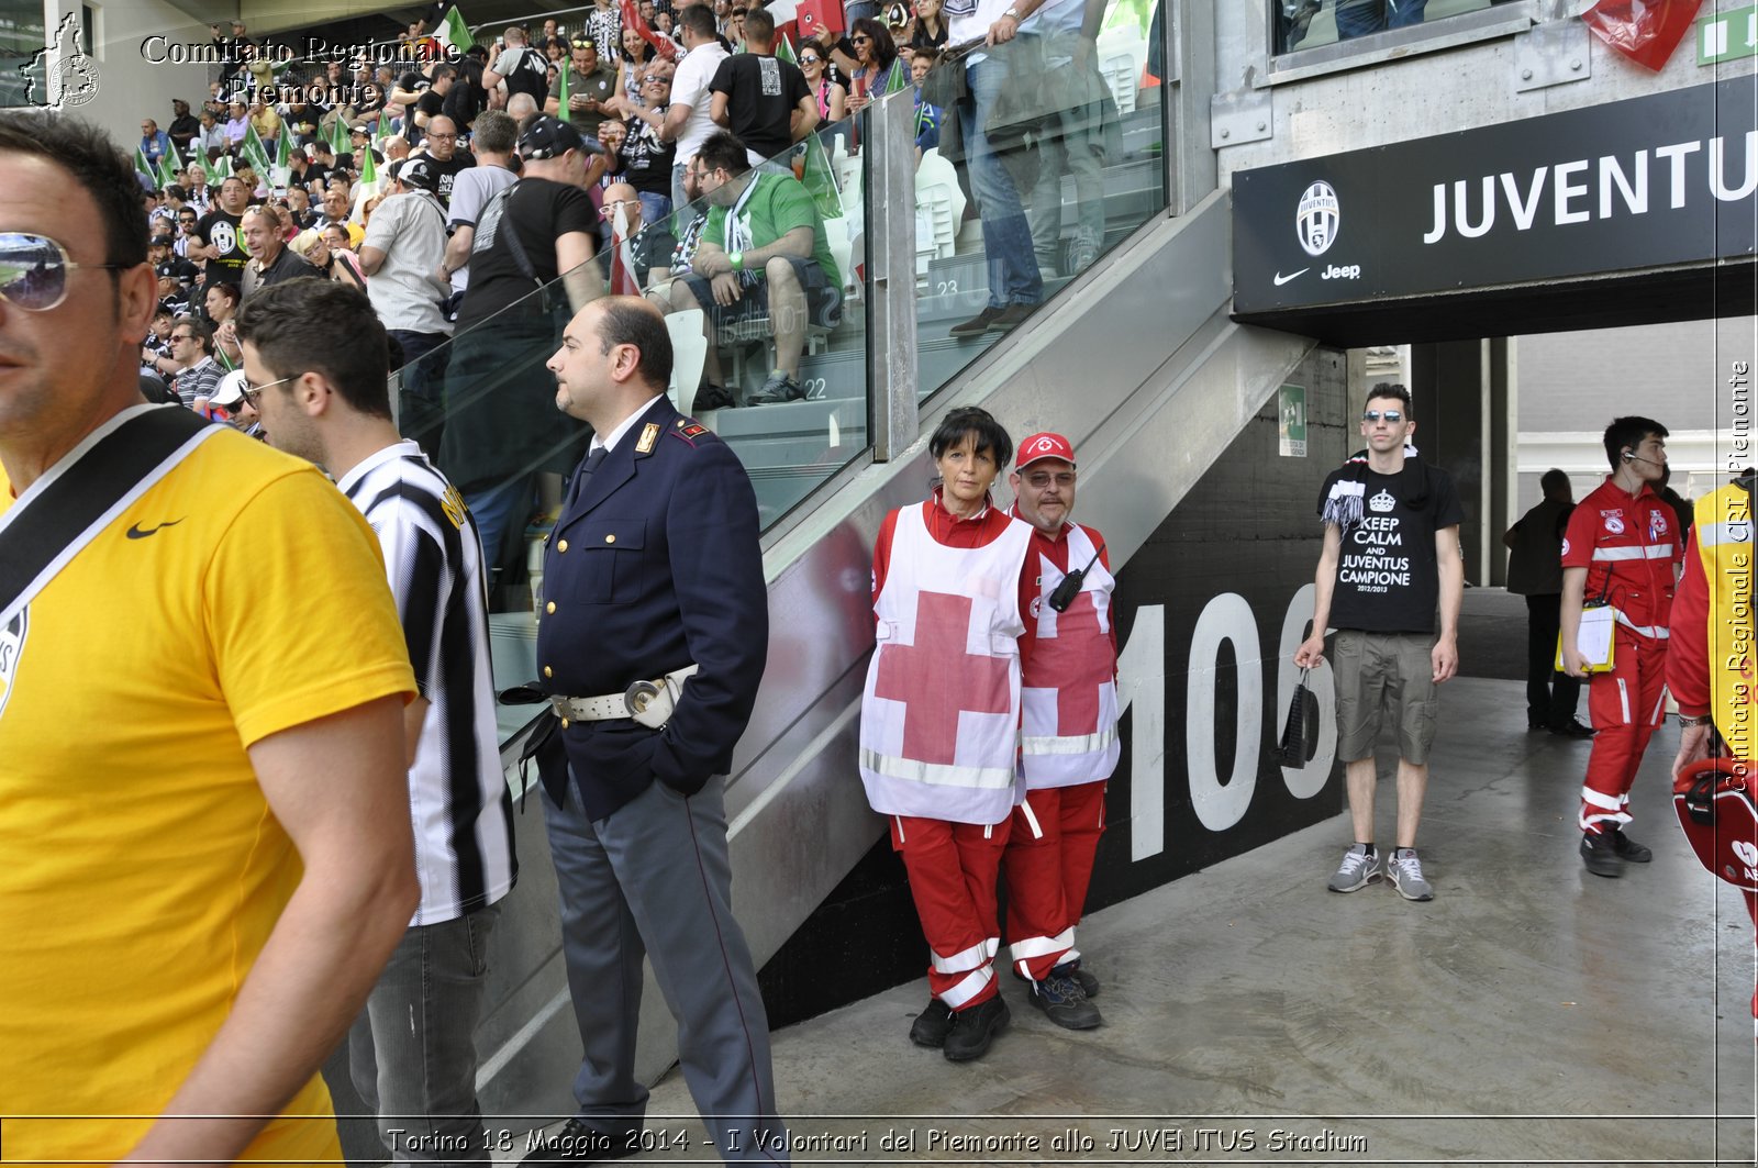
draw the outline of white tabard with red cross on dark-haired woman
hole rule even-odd
[[[861,783],[881,814],[1000,823],[1020,802],[1020,572],[1032,528],[946,547],[898,512],[867,691]]]

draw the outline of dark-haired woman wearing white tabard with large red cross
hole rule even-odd
[[[861,783],[891,818],[928,941],[911,1041],[983,1057],[1009,1020],[995,985],[995,878],[1018,781],[1021,575],[1032,528],[990,500],[1013,440],[953,410],[928,440],[942,484],[879,526]]]

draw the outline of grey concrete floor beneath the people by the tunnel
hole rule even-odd
[[[1602,880],[1575,855],[1587,744],[1526,734],[1514,681],[1449,684],[1442,718],[1433,902],[1326,892],[1338,816],[1090,916],[1097,1031],[1011,980],[974,1064],[909,1043],[923,983],[781,1031],[795,1138],[853,1145],[795,1163],[1754,1163],[1753,927],[1672,816],[1677,730],[1635,790],[1654,862]],[[675,1071],[649,1129],[691,1142],[649,1163],[714,1159]]]

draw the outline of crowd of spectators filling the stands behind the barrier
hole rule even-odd
[[[443,51],[417,19],[392,65],[366,56],[287,62],[287,53],[251,40],[241,23],[230,37],[216,26],[216,44],[234,63],[199,109],[179,99],[165,128],[151,118],[141,121],[137,158],[142,186],[151,188],[144,202],[163,310],[142,350],[142,382],[237,422],[237,399],[216,387],[243,361],[232,332],[239,306],[260,288],[301,276],[352,283],[366,290],[390,336],[394,368],[403,368],[404,433],[471,494],[471,477],[447,466],[448,457],[457,463],[466,456],[448,456],[441,436],[452,415],[471,408],[466,398],[476,391],[464,382],[487,385],[490,373],[505,380],[515,361],[505,336],[473,343],[462,359],[462,343],[450,341],[587,260],[570,281],[570,299],[582,292],[575,283],[589,280],[585,296],[645,292],[666,313],[701,310],[708,354],[694,394],[698,408],[798,401],[805,398],[800,361],[807,332],[839,324],[851,287],[846,281],[854,276],[839,267],[826,237],[821,190],[805,174],[807,153],[819,150],[819,176],[828,174],[825,146],[861,148],[854,114],[914,86],[919,160],[956,121],[951,109],[925,97],[930,70],[942,63],[960,81],[969,69],[969,88],[976,90],[962,97],[967,86],[939,86],[953,95],[939,100],[960,102],[967,123],[963,153],[956,139],[942,153],[958,165],[960,183],[977,188],[992,297],[1000,297],[953,334],[1006,331],[1041,288],[1035,283],[1030,299],[1014,296],[1018,281],[1009,281],[1020,257],[1028,260],[1037,243],[1041,262],[1051,262],[1042,248],[1055,250],[1062,227],[1062,174],[1076,176],[1083,201],[1097,178],[1102,142],[1093,127],[1104,116],[1081,123],[1083,134],[1064,142],[1037,134],[1034,146],[1046,165],[1034,190],[1025,181],[1034,167],[1021,169],[984,144],[984,107],[993,107],[995,88],[976,83],[993,79],[999,67],[967,65],[948,49],[960,37],[990,35],[988,56],[997,60],[1002,42],[1027,19],[1021,9],[1042,9],[1042,37],[1034,40],[1060,51],[1057,67],[1067,70],[1072,62],[1076,74],[1092,72],[1102,90],[1092,55],[1067,46],[1071,37],[1085,37],[1090,47],[1104,5],[1027,0],[1006,14],[990,12],[1000,4],[983,0],[974,14],[953,19],[942,0],[916,0],[914,11],[902,2],[888,9],[851,4],[846,33],[819,25],[802,35],[793,21],[777,28],[758,0],[638,0],[638,19],[628,26],[621,4],[596,0],[566,25],[545,19],[536,32],[513,25],[462,55]],[[992,30],[1007,35],[993,37]],[[1020,84],[1027,83],[1042,88],[1037,77]],[[1064,81],[1048,88],[1069,93],[1081,86]],[[1101,106],[1092,95],[1079,100],[1088,99]],[[566,125],[568,134],[533,134],[540,120]],[[522,137],[547,146],[536,153],[517,148],[526,146]],[[162,181],[167,171],[176,181]],[[536,172],[550,186],[578,188],[584,199],[578,206],[552,202],[541,213],[519,209],[522,204],[506,193],[520,176]],[[993,195],[1002,183],[1018,208],[1011,218],[1007,201]],[[1090,202],[1081,223],[1097,236],[1102,222],[1088,223],[1099,199]],[[1030,236],[1016,227],[1027,204]],[[508,216],[508,208],[517,213]],[[587,220],[584,253],[571,245],[550,253],[554,234],[527,243],[526,250],[545,253],[534,266],[503,253],[505,239],[496,250],[498,236],[510,234],[513,223],[550,230],[566,220],[573,232],[580,215]],[[992,223],[997,216],[1006,220],[997,220],[999,227]],[[1095,245],[1097,237],[1086,241],[1081,264],[1090,262]],[[471,267],[482,267],[485,255],[494,290],[485,287],[473,297]],[[543,327],[526,331],[536,338]],[[766,375],[726,383],[717,348],[728,329],[745,339],[768,338]],[[468,378],[455,376],[466,371]],[[482,433],[454,427],[454,438],[466,443]],[[480,491],[490,493],[492,484]],[[543,493],[533,500],[541,503]],[[520,489],[513,510],[524,503]],[[517,521],[510,515],[498,528],[513,529]]]

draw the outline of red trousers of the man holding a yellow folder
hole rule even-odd
[[[1623,624],[1614,635],[1612,670],[1595,674],[1587,684],[1587,711],[1598,730],[1580,792],[1580,829],[1587,832],[1630,821],[1630,785],[1665,718],[1667,642]]]

